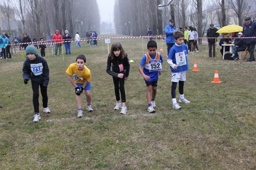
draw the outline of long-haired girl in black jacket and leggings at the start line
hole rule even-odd
[[[110,70],[110,68],[112,68]],[[125,105],[126,97],[124,91],[124,80],[127,81],[130,72],[130,63],[127,54],[124,52],[124,49],[121,43],[113,43],[111,46],[110,54],[108,55],[107,60],[107,73],[112,75],[115,89],[115,108],[114,110],[121,109],[121,114],[127,113],[127,107]],[[120,93],[121,100],[120,102]]]

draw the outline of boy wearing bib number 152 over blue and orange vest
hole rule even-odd
[[[155,112],[153,107],[156,107],[155,97],[157,95],[157,81],[158,75],[161,75],[163,59],[160,52],[157,52],[157,42],[153,40],[149,41],[147,48],[148,52],[142,56],[139,72],[147,86],[146,96],[148,100],[148,112]]]

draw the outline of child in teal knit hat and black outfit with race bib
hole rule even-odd
[[[22,77],[24,84],[28,84],[31,80],[33,90],[33,107],[34,116],[33,122],[37,122],[41,119],[39,113],[39,86],[42,94],[42,104],[44,112],[50,113],[48,108],[47,86],[49,84],[49,67],[46,59],[37,54],[37,50],[33,45],[26,47],[26,59],[22,66]]]

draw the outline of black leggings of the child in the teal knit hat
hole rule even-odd
[[[39,86],[42,95],[42,103],[43,107],[46,108],[48,104],[48,97],[47,97],[47,87],[43,86],[43,84],[38,84],[35,81],[31,81],[32,89],[33,89],[33,106],[34,111],[39,112]]]

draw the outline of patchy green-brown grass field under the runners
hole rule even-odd
[[[108,49],[82,42],[64,58],[51,57],[48,107],[33,123],[31,82],[22,80],[21,53],[0,60],[0,169],[256,169],[255,62],[207,58],[207,45],[189,54],[184,86],[191,104],[171,102],[171,73],[164,50],[158,80],[157,107],[149,114],[146,84],[138,71],[147,40],[111,39],[128,53],[130,77],[125,82],[128,114],[114,111],[112,77],[106,73]],[[144,48],[142,48],[144,47]],[[219,46],[218,46],[219,49]],[[65,50],[65,49],[63,49]],[[38,52],[40,52],[38,50]],[[93,112],[77,118],[74,89],[65,73],[78,54],[85,54],[92,73]],[[191,72],[194,61],[199,72]],[[218,70],[221,84],[212,84]],[[178,100],[178,89],[177,100]]]

